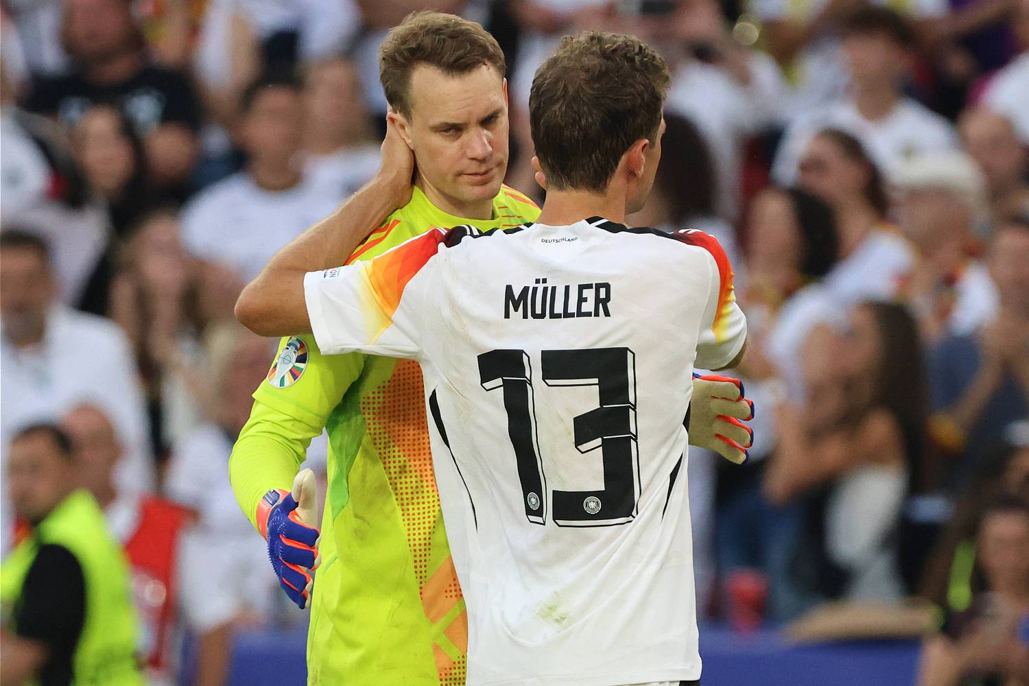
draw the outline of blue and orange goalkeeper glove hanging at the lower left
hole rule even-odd
[[[268,541],[268,556],[279,585],[301,609],[311,597],[311,571],[318,567],[320,532],[318,483],[310,469],[301,469],[290,493],[274,489],[257,505],[257,528]]]

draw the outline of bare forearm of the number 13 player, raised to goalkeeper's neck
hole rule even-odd
[[[311,331],[304,275],[343,264],[395,208],[395,194],[375,179],[272,258],[236,302],[236,318],[262,336]]]

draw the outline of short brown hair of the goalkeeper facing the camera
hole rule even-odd
[[[450,76],[483,65],[501,76],[507,70],[497,40],[478,24],[443,12],[412,12],[390,30],[379,48],[379,80],[386,101],[404,116],[411,114],[411,73],[420,64]]]

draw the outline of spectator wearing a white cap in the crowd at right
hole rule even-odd
[[[986,183],[963,152],[920,155],[897,169],[900,226],[917,252],[909,286],[929,341],[971,333],[998,306],[989,272],[970,254],[986,214]]]

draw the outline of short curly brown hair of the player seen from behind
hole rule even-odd
[[[554,189],[603,190],[641,138],[653,142],[671,77],[634,36],[566,36],[536,72],[529,120],[536,156]]]

